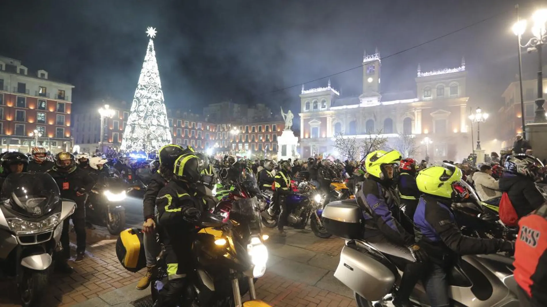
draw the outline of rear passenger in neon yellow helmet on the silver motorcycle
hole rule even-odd
[[[365,158],[366,178],[357,192],[357,203],[363,210],[363,238],[371,243],[391,246],[394,256],[404,266],[399,290],[393,293],[395,306],[410,306],[409,297],[420,279],[427,254],[416,245],[414,225],[400,209],[400,198],[394,183],[398,180],[401,154],[398,151],[374,151]]]

